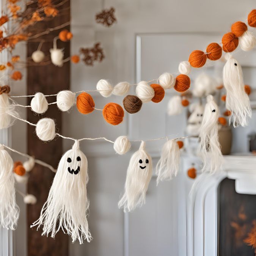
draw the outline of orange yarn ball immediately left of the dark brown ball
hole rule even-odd
[[[102,114],[104,116],[104,119],[112,125],[118,125],[122,123],[124,118],[123,108],[119,104],[113,102],[105,105]]]

